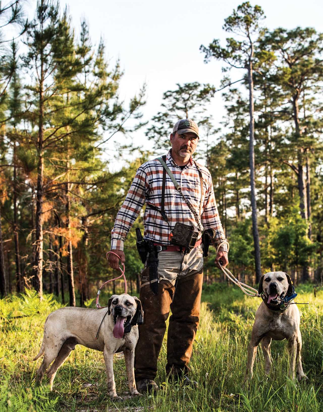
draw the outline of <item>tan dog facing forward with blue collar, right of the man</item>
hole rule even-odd
[[[285,272],[268,272],[260,279],[258,293],[262,295],[263,302],[256,311],[251,332],[245,380],[252,377],[259,342],[261,342],[265,358],[265,374],[269,375],[272,364],[270,356],[272,339],[288,340],[288,349],[291,355],[288,376],[295,379],[295,363],[297,362],[298,380],[306,378],[300,356],[300,350],[302,349],[300,311],[296,304],[282,305],[282,299],[292,296],[294,293],[290,277]],[[290,302],[293,302],[293,300],[290,300]],[[284,309],[285,306],[286,309]]]

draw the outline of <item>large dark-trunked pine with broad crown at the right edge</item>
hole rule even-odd
[[[291,116],[293,119],[293,133],[288,143],[297,155],[295,158],[293,152],[290,152],[290,161],[285,159],[284,162],[297,176],[300,213],[302,218],[307,219],[310,215],[309,199],[307,202],[307,195],[309,197],[310,194],[309,160],[311,150],[316,146],[316,136],[321,124],[318,117],[321,101],[314,96],[319,96],[322,90],[323,60],[320,54],[323,51],[323,34],[317,33],[313,28],[277,28],[266,33],[261,45],[275,53],[277,59],[272,80],[280,88],[285,100],[282,102],[284,109],[280,115],[282,118]]]

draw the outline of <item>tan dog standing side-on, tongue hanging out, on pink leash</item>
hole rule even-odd
[[[134,379],[134,350],[138,341],[138,324],[143,323],[141,302],[137,297],[127,294],[113,295],[108,302],[108,314],[104,318],[96,339],[102,318],[106,310],[65,307],[47,316],[44,326],[44,339],[36,361],[44,353],[42,365],[37,370],[36,382],[41,382],[46,372],[53,389],[53,380],[60,365],[75,345],[84,345],[90,349],[102,351],[106,364],[108,395],[121,399],[115,391],[113,376],[113,354],[123,351],[128,375],[128,386],[132,396],[140,393]]]

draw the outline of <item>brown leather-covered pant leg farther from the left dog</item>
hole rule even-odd
[[[182,377],[189,372],[188,363],[200,317],[202,283],[203,269],[178,279],[168,326],[167,375]]]

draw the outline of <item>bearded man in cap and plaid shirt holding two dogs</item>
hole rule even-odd
[[[145,162],[137,170],[112,230],[111,250],[119,255],[121,262],[125,262],[124,240],[145,203],[144,238],[154,242],[156,251],[162,249],[158,252],[157,295],[150,288],[147,263],[141,277],[140,300],[144,310],[144,323],[139,326],[139,340],[135,352],[135,377],[139,391],[158,389],[154,381],[157,358],[170,309],[172,315],[167,335],[166,373],[170,379],[181,379],[184,384],[197,386],[187,375],[200,314],[203,283],[202,226],[204,229],[214,229],[215,246],[226,241],[210,172],[191,157],[199,140],[197,124],[190,119],[179,120],[173,128],[170,140],[172,148],[165,159],[166,165],[181,186],[198,222],[168,173],[163,176],[162,164],[158,159],[154,159]],[[163,218],[162,209],[168,221]],[[195,232],[198,232],[196,245],[188,253],[187,249],[175,246],[169,240],[176,222],[193,225]],[[221,261],[221,265],[225,267],[228,265],[226,245],[220,249],[215,264],[218,265]],[[108,259],[110,266],[117,269],[118,258],[110,254]]]

